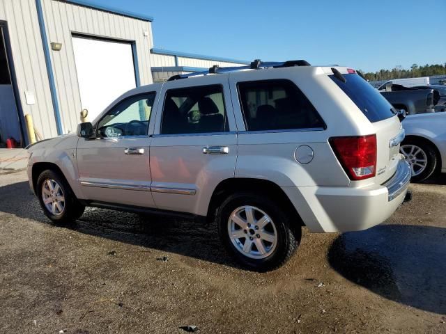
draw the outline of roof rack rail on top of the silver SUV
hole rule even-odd
[[[234,72],[240,70],[259,70],[261,68],[279,68],[279,67],[293,67],[293,66],[310,66],[310,63],[304,60],[298,61],[261,61],[260,59],[255,59],[249,65],[245,66],[229,66],[229,67],[220,67],[219,65],[213,65],[208,70],[200,71],[200,72],[192,72],[187,74],[176,74],[167,81],[174,81],[178,79],[186,79],[190,77],[198,77],[200,75],[207,74],[221,74],[227,72]]]

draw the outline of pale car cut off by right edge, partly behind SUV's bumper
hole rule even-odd
[[[436,170],[446,173],[446,113],[421,113],[403,120],[406,138],[401,153],[412,169],[412,180],[423,181]]]

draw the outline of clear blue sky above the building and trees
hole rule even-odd
[[[446,0],[93,0],[154,17],[154,46],[365,72],[446,63]]]

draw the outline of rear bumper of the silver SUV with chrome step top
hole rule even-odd
[[[306,186],[284,188],[312,232],[365,230],[383,223],[403,202],[410,167],[399,161],[397,172],[382,185],[363,188]]]

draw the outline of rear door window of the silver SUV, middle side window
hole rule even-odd
[[[161,134],[229,131],[223,87],[200,86],[167,90]]]

